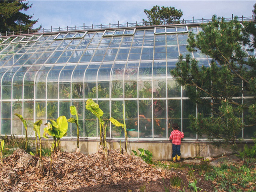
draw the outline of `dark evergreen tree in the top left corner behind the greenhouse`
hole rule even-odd
[[[4,0],[0,1],[0,32],[32,30],[37,20],[31,20],[33,15],[27,15],[21,11],[27,11],[32,4],[23,3],[24,0]],[[37,28],[36,30],[40,29]]]

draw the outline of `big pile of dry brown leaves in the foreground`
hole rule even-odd
[[[117,183],[120,180],[140,182],[170,178],[171,172],[146,164],[140,157],[108,150],[108,156],[100,148],[92,155],[58,152],[52,158],[39,157],[18,149],[5,157],[0,166],[1,191],[70,191],[80,187]]]

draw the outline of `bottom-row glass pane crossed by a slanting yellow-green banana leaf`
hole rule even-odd
[[[115,118],[120,123],[124,123],[123,101],[111,102],[111,117]],[[111,124],[111,137],[124,137],[124,129],[122,127],[116,127],[114,124]]]

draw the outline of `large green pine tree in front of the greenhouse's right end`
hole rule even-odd
[[[190,128],[199,136],[206,134],[216,145],[232,142],[236,149],[243,127],[256,125],[255,105],[234,99],[242,93],[255,96],[255,23],[241,24],[237,18],[227,22],[213,15],[212,22],[201,27],[198,34],[189,32],[187,49],[207,55],[212,59],[211,67],[200,67],[198,60],[181,55],[171,74],[192,101],[210,108],[209,113],[190,115]],[[249,115],[243,122],[245,111]]]

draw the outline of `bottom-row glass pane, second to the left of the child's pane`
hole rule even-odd
[[[142,138],[152,138],[152,101],[139,100],[139,128]]]

